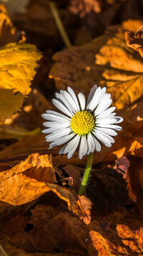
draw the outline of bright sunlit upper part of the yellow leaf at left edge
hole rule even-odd
[[[35,45],[10,43],[0,49],[0,88],[14,89],[24,95],[35,75],[36,61],[41,58]]]

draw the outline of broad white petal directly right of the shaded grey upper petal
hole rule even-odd
[[[92,101],[89,103],[89,106],[87,106],[87,109],[94,110],[96,106],[99,104],[99,102],[102,101],[103,96],[106,92],[106,87],[104,88],[97,88],[97,91],[94,93]]]

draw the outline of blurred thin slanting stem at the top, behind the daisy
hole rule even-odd
[[[70,47],[71,46],[71,42],[69,40],[69,37],[66,33],[66,30],[64,29],[64,25],[61,22],[61,17],[59,16],[59,11],[56,7],[56,3],[54,1],[49,1],[49,6],[51,8],[51,12],[54,16],[55,22],[56,22],[56,26],[59,29],[59,33],[61,35],[62,40],[64,41],[64,45],[66,45],[66,47]]]

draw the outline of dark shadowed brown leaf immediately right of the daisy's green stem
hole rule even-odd
[[[107,167],[96,170],[93,165],[87,196],[92,201],[92,214],[95,219],[97,216],[107,216],[113,211],[123,213],[126,206],[132,203],[123,174]]]

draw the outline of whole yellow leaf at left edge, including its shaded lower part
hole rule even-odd
[[[19,111],[31,91],[36,62],[41,58],[35,45],[10,43],[0,49],[0,121]],[[18,93],[17,93],[18,92]]]

